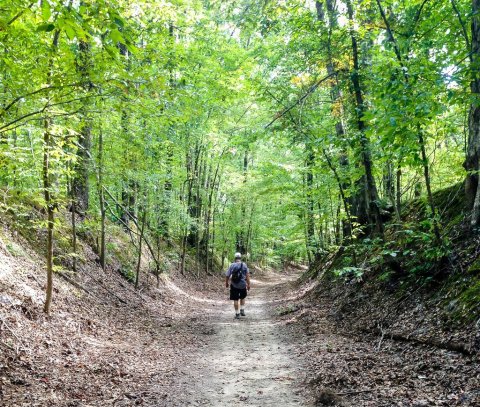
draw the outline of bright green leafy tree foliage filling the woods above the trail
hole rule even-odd
[[[377,3],[353,6],[350,25],[338,4],[322,16],[297,0],[6,2],[2,208],[16,213],[25,235],[32,224],[45,229],[43,213],[13,197],[44,211],[48,156],[55,214],[77,198],[72,185],[85,170],[89,206],[77,233],[96,246],[104,195],[106,216],[131,240],[107,244],[107,253],[129,267],[146,213],[155,267],[176,242],[209,258],[204,266],[240,249],[249,261],[279,266],[349,245],[342,278],[361,278],[355,258],[367,256],[372,267],[396,256],[408,273],[430,276],[450,253],[435,227],[452,217],[449,209],[433,216],[424,184],[435,194],[465,176],[469,50],[448,1],[390,2],[393,39]],[[458,7],[468,26],[468,4]],[[366,139],[379,197],[362,203]],[[401,206],[419,194],[418,218],[402,223]],[[372,213],[363,219],[362,205],[395,219],[396,244],[370,235]],[[70,252],[69,220],[57,217],[59,244]]]

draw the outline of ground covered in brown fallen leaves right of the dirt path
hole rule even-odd
[[[408,335],[396,340],[381,331],[369,333],[374,312],[370,318],[357,312],[356,321],[342,319],[345,304],[330,294],[315,284],[281,318],[299,344],[295,349],[306,363],[318,406],[480,406],[478,352],[465,354],[445,349],[441,341],[434,346]]]

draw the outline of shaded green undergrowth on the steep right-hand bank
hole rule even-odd
[[[333,247],[317,259],[308,275],[324,275],[349,285],[368,280],[378,290],[398,297],[421,290],[432,298],[438,296],[454,322],[475,321],[479,317],[480,256],[478,242],[471,239],[465,224],[461,185],[436,192],[434,199],[441,214],[440,241],[428,205],[418,199],[405,205],[401,223],[386,224],[384,240],[367,237]]]

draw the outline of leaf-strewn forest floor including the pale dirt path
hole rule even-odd
[[[39,274],[2,260],[1,406],[480,405],[477,356],[341,331],[298,271],[257,273],[238,321],[219,278],[138,292],[85,269],[89,295],[57,280],[45,317]]]

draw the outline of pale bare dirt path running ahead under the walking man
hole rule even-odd
[[[282,325],[272,317],[272,288],[279,282],[253,281],[246,317],[234,320],[233,306],[211,304],[211,340],[199,360],[183,372],[191,406],[307,406],[300,381],[304,373]],[[176,400],[179,402],[180,400]]]

